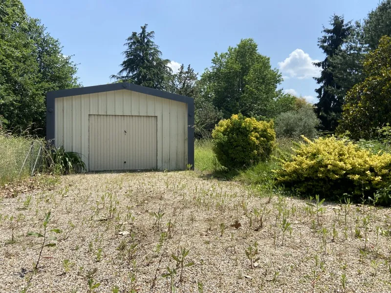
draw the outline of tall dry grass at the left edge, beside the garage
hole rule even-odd
[[[33,141],[42,143],[31,137],[0,133],[0,186],[29,176],[38,154],[38,144],[33,148],[23,168],[22,165]]]

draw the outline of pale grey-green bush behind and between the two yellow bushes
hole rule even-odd
[[[316,128],[320,120],[312,108],[312,105],[302,105],[297,110],[281,113],[276,118],[277,137],[300,137],[304,135],[314,138],[317,134]]]

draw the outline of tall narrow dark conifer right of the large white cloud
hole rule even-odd
[[[318,39],[318,46],[326,54],[324,61],[314,63],[322,68],[320,77],[314,78],[321,86],[316,89],[319,102],[316,105],[316,112],[322,122],[323,130],[333,131],[337,126],[337,120],[342,112],[341,97],[333,93],[332,89],[340,89],[341,86],[334,80],[329,66],[329,59],[336,55],[351,33],[351,22],[345,23],[344,18],[333,15],[330,19],[331,28],[323,27],[324,36]]]

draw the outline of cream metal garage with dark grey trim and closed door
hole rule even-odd
[[[46,139],[88,171],[194,168],[194,100],[129,83],[48,92]]]

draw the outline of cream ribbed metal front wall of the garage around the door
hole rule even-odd
[[[88,168],[88,115],[157,117],[157,168],[185,169],[187,104],[130,90],[55,99],[55,144],[82,154]]]

